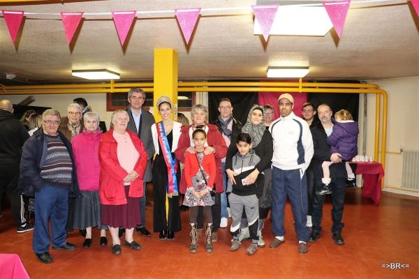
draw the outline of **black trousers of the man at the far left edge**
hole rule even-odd
[[[1,160],[0,161],[0,211],[1,199],[4,190],[10,199],[13,220],[16,225],[21,226],[26,223],[24,218],[24,203],[17,186],[19,184],[20,162],[19,160]]]

